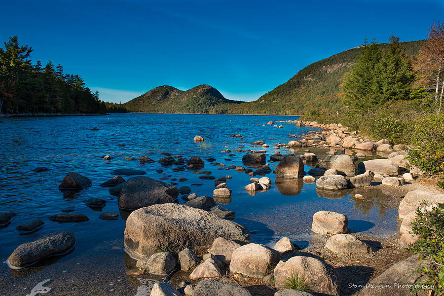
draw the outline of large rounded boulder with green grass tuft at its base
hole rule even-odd
[[[295,256],[286,262],[280,261],[274,269],[274,283],[277,289],[286,287],[291,277],[304,278],[310,290],[323,295],[339,296],[341,281],[333,267],[319,259]]]

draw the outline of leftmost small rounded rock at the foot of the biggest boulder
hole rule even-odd
[[[171,253],[154,253],[149,257],[141,258],[136,266],[147,270],[151,274],[167,275],[176,268],[177,259]]]

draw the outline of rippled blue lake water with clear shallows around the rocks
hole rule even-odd
[[[141,278],[142,282],[137,277],[126,276],[127,270],[134,267],[134,262],[124,255],[122,249],[125,221],[122,218],[116,221],[98,219],[101,212],[119,213],[116,197],[109,194],[109,188],[99,186],[112,178],[111,171],[118,168],[139,169],[147,172],[145,176],[155,179],[171,175],[169,180],[164,181],[168,183],[172,178],[185,177],[188,179],[186,182],[174,181],[178,187],[190,186],[191,192],[196,192],[198,196],[212,196],[214,180],[200,180],[200,175],[188,170],[173,172],[171,169],[176,165],[162,166],[157,162],[141,164],[138,158],[146,155],[157,161],[164,156],[161,152],[169,152],[185,158],[192,155],[202,158],[212,156],[226,166],[248,167],[241,161],[244,153],[232,152],[235,155],[229,156],[229,153],[221,151],[235,151],[239,146],[245,146],[243,149],[265,149],[273,154],[276,151],[272,148],[273,144],[294,140],[290,134],[317,130],[296,127],[291,123],[282,123],[284,128],[262,126],[270,120],[289,119],[297,117],[111,114],[1,119],[0,211],[14,212],[17,216],[9,225],[0,228],[0,260],[7,259],[18,245],[61,229],[74,232],[76,246],[64,257],[54,257],[26,270],[10,271],[6,264],[0,264],[0,295],[29,294],[34,286],[46,279],[51,281],[44,286],[53,289],[48,295],[109,295],[111,292],[115,295],[136,295],[147,276]],[[91,131],[91,128],[98,128],[99,131]],[[235,134],[241,134],[244,139],[229,136]],[[195,135],[204,137],[205,143],[194,143]],[[270,148],[250,146],[250,142],[258,140],[264,140]],[[125,146],[118,146],[122,144]],[[299,152],[303,153],[304,149],[301,148]],[[318,157],[327,151],[310,149]],[[282,154],[290,152],[286,149],[280,151]],[[111,161],[103,160],[107,154],[113,157]],[[137,160],[123,160],[127,156]],[[276,163],[270,165],[273,168]],[[33,169],[38,166],[48,167],[50,171],[36,173]],[[164,172],[156,173],[159,168]],[[243,189],[251,178],[245,173],[221,169],[208,161],[204,169],[212,171],[216,178],[232,176],[227,180],[228,187],[233,190],[232,199],[228,203],[223,201],[223,204],[236,213],[234,221],[247,226],[253,240],[258,243],[273,246],[282,236],[290,237],[301,247],[315,242],[317,236],[310,231],[311,219],[320,210],[347,215],[352,232],[385,236],[396,233],[398,229],[395,218],[397,208],[389,196],[377,189],[366,191],[365,199],[356,199],[352,197],[354,193],[350,195],[352,191],[319,191],[315,184],[303,184],[301,180],[276,180],[274,174],[270,173],[266,176],[272,181],[271,189],[252,196]],[[309,169],[305,167],[305,171]],[[88,177],[93,185],[76,192],[60,191],[58,185],[71,171]],[[125,180],[130,178],[123,177]],[[85,205],[84,201],[91,197],[107,201],[102,211]],[[179,197],[179,202],[184,201]],[[49,221],[50,216],[64,208],[72,208],[73,213],[85,214],[90,220],[80,223]],[[15,230],[17,225],[34,218],[45,222],[41,229],[26,235]],[[94,284],[85,285],[85,280]],[[64,281],[71,281],[72,284],[66,286],[62,284]]]

